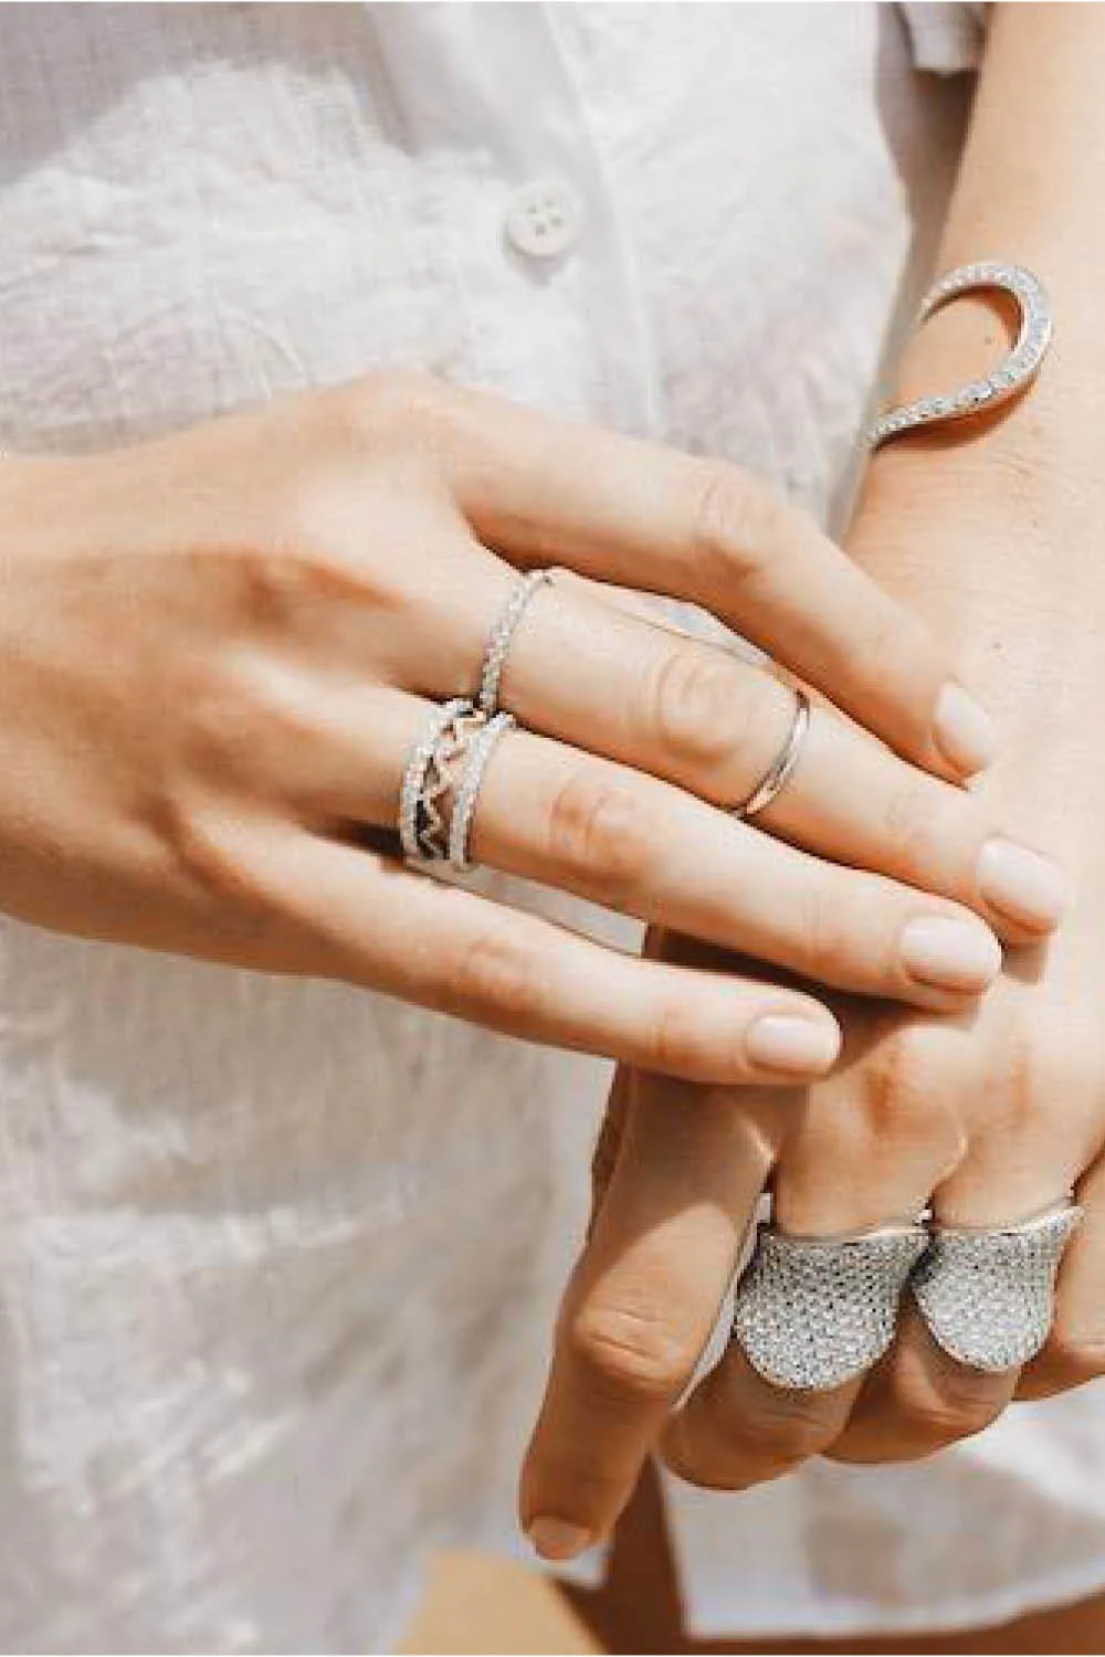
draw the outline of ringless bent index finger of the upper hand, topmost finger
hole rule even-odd
[[[989,714],[946,651],[754,474],[456,396],[457,504],[505,557],[688,598],[928,771],[963,779],[989,764]]]

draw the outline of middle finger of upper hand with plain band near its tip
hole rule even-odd
[[[782,751],[795,708],[794,691],[762,668],[633,615],[567,572],[522,615],[500,698],[547,736],[729,809]],[[967,903],[1009,940],[1039,936],[1062,915],[1059,872],[1004,835],[982,800],[823,704],[757,827]]]

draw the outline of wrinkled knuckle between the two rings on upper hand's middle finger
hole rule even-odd
[[[666,651],[646,689],[648,739],[696,771],[722,766],[741,746],[742,689],[721,651]]]

